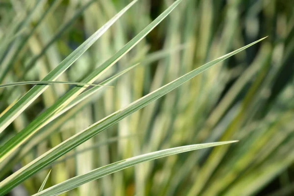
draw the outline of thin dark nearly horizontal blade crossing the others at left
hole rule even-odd
[[[99,84],[88,84],[83,82],[67,82],[67,81],[25,81],[25,82],[13,82],[7,84],[1,84],[0,88],[10,87],[10,86],[20,86],[28,84],[74,84],[79,86],[104,86]],[[113,87],[113,86],[104,86],[104,87]]]

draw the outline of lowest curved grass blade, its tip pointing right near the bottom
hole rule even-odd
[[[146,161],[151,161],[154,159],[158,159],[158,158],[162,158],[162,157],[166,157],[166,156],[170,156],[170,155],[178,154],[182,152],[188,152],[188,151],[197,150],[197,149],[206,148],[206,147],[215,147],[215,146],[230,144],[234,142],[238,142],[238,141],[216,142],[216,143],[189,145],[189,146],[183,146],[183,147],[173,147],[173,148],[169,148],[165,150],[159,150],[159,151],[135,156],[135,157],[128,158],[122,161],[118,161],[113,164],[106,165],[104,167],[98,168],[91,172],[73,177],[69,180],[66,180],[62,183],[59,183],[48,189],[45,189],[44,191],[37,193],[34,196],[57,196],[57,195],[60,195],[61,193],[70,191],[92,180],[96,180],[105,175],[121,171],[125,168],[135,166],[137,164],[140,164]]]

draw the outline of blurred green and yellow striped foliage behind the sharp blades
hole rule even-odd
[[[130,0],[1,0],[0,83],[41,80]],[[173,0],[139,0],[59,80],[81,81]],[[266,40],[201,73],[88,140],[11,195],[45,187],[123,158],[189,144],[239,143],[140,164],[68,192],[71,196],[291,196],[294,194],[294,1],[183,0],[104,79],[115,88],[82,101],[26,143],[4,178],[162,85],[261,37]],[[0,89],[0,111],[31,86]],[[72,86],[54,84],[0,135],[21,131]]]

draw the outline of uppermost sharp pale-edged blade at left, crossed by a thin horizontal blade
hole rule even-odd
[[[91,37],[89,37],[83,44],[75,49],[68,57],[66,57],[54,70],[52,70],[42,81],[54,81],[62,73],[64,73],[87,49],[90,48],[98,38],[116,22],[125,11],[127,11],[137,0],[132,1],[126,7],[123,8],[118,14],[116,14],[105,25],[99,28]],[[30,89],[18,102],[13,105],[9,111],[7,111],[0,118],[0,133],[16,119],[36,98],[38,98],[49,86],[37,85]],[[2,154],[1,154],[2,155]]]

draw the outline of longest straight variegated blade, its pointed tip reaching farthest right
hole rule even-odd
[[[176,1],[178,2],[178,1]],[[45,166],[52,163],[54,160],[58,159],[62,155],[66,154],[73,148],[79,146],[83,142],[87,141],[88,139],[94,137],[98,133],[104,131],[105,129],[109,128],[110,126],[120,122],[126,116],[136,112],[137,110],[145,107],[152,101],[166,95],[167,93],[171,92],[173,89],[177,88],[178,86],[182,85],[183,83],[187,82],[188,80],[192,79],[199,73],[204,72],[205,70],[209,69],[213,65],[229,58],[230,56],[260,42],[265,38],[257,40],[245,47],[237,49],[233,52],[230,52],[224,56],[221,56],[205,65],[173,80],[172,82],[166,84],[165,86],[153,91],[152,93],[140,98],[131,104],[127,105],[126,107],[114,112],[113,114],[105,117],[104,119],[98,121],[97,123],[92,124],[91,126],[87,127],[86,129],[82,130],[81,132],[73,135],[71,138],[67,139],[66,141],[62,142],[61,144],[57,145],[56,147],[50,149],[34,161],[27,164],[25,167],[21,168],[17,172],[13,173],[5,180],[0,182],[0,195],[3,193],[8,192],[13,187],[17,186],[19,183],[24,181],[26,178],[31,176],[32,174],[38,172]],[[4,148],[5,150],[5,148]]]

